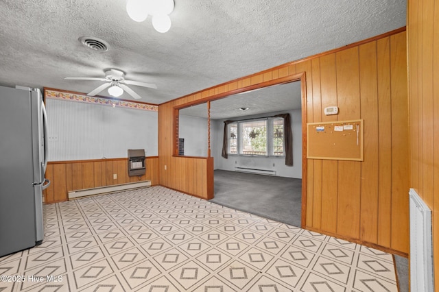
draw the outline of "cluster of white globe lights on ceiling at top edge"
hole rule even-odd
[[[152,26],[157,32],[171,28],[169,14],[174,11],[174,0],[128,0],[126,11],[133,21],[142,22],[152,15]]]

